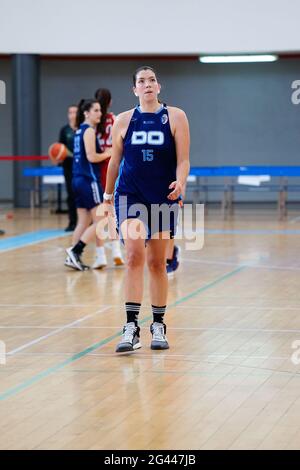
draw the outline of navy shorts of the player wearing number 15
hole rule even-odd
[[[146,240],[150,240],[156,233],[160,232],[169,232],[170,238],[174,238],[176,234],[178,202],[145,204],[132,194],[119,194],[116,191],[115,209],[117,230],[122,241],[124,240],[120,227],[127,219],[139,219],[143,222],[147,234]]]

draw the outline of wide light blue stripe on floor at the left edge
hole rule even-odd
[[[70,236],[70,233],[58,229],[38,230],[36,232],[23,233],[22,235],[16,235],[15,237],[0,240],[0,252],[15,250],[17,248],[23,248],[28,245],[35,245],[36,243],[66,236]]]

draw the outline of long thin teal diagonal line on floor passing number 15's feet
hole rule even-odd
[[[191,292],[190,294],[188,294],[184,297],[181,297],[177,301],[173,302],[170,306],[172,307],[172,306],[179,305],[180,303],[186,302],[187,300],[192,299],[193,297],[196,297],[200,293],[205,292],[207,289],[210,289],[210,288],[220,284],[221,282],[226,281],[227,279],[230,279],[232,276],[234,276],[236,274],[239,274],[244,269],[245,269],[244,266],[239,266],[238,268],[234,269],[233,271],[230,271],[228,273],[223,274],[222,276],[215,279],[214,281],[211,281],[210,283],[205,284],[202,287],[199,287],[198,289]],[[147,321],[149,321],[151,319],[152,319],[152,315],[148,315],[143,320],[141,320],[140,324],[146,323]],[[89,354],[89,353],[95,351],[96,349],[99,349],[102,346],[105,346],[107,343],[110,343],[111,341],[117,339],[119,336],[121,336],[121,334],[122,334],[122,331],[119,331],[118,333],[115,333],[114,335],[109,336],[109,337],[107,337],[107,338],[105,338],[105,339],[103,339],[103,340],[87,347],[83,351],[80,351],[80,352],[74,354],[69,359],[66,359],[65,361],[63,361],[59,364],[56,364],[55,366],[49,367],[48,369],[45,369],[44,371],[39,372],[38,374],[34,375],[30,379],[25,380],[24,382],[20,383],[19,385],[16,385],[12,388],[9,388],[8,390],[6,390],[5,392],[2,392],[0,394],[0,401],[4,401],[7,398],[13,397],[13,396],[17,395],[18,393],[28,389],[30,386],[34,385],[35,383],[40,382],[41,380],[49,377],[52,374],[55,374],[56,372],[58,372],[61,369],[65,368],[66,366],[68,366],[69,364],[72,364],[73,362],[77,361],[78,359],[83,358],[87,354]]]

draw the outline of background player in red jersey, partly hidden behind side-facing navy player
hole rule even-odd
[[[97,138],[102,152],[111,151],[112,148],[112,127],[115,121],[115,115],[109,112],[109,108],[112,104],[111,92],[107,88],[98,88],[95,92],[95,99],[100,103],[101,107],[101,119],[97,125]],[[103,160],[100,163],[100,184],[102,189],[106,186],[107,168],[109,164],[109,158]],[[99,248],[100,240],[96,238],[96,252],[97,257],[93,264],[93,268],[102,268],[107,265],[107,259],[102,247]],[[124,264],[120,242],[119,240],[111,240],[110,243],[106,243],[105,247],[111,248],[112,257],[115,266],[122,266]]]

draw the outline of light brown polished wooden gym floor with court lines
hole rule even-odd
[[[3,245],[65,224],[47,210],[0,221],[1,449],[300,448],[298,212],[209,211],[204,248],[179,242],[170,350],[149,348],[146,287],[143,347],[121,356],[123,268],[68,270],[69,237]]]

